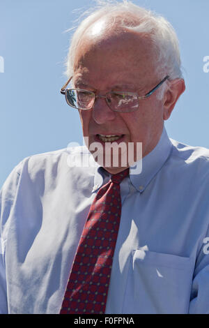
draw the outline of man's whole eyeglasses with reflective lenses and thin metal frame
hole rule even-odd
[[[104,98],[107,105],[114,112],[134,112],[139,109],[139,100],[146,99],[155,92],[167,79],[169,75],[150,90],[145,96],[139,96],[137,92],[129,91],[109,91],[105,96],[96,95],[93,91],[85,89],[66,89],[72,77],[61,88],[61,94],[73,108],[77,110],[91,110],[95,104],[96,98]]]

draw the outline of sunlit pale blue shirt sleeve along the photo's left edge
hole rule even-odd
[[[22,162],[6,179],[0,191],[0,314],[8,313],[5,252],[10,213],[15,204]]]

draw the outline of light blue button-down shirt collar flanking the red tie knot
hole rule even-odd
[[[155,148],[150,151],[148,155],[142,158],[141,172],[136,174],[136,166],[130,167],[130,181],[137,191],[143,193],[146,186],[148,186],[153,177],[155,177],[155,174],[157,174],[157,172],[167,161],[167,158],[171,153],[171,148],[171,141],[169,140],[166,129],[163,128],[162,135],[157,143],[157,146],[155,146]],[[138,162],[137,165],[141,165],[141,163]],[[106,172],[102,167],[99,165],[96,167],[93,192],[97,191],[98,188],[102,186],[104,179],[108,175],[108,172]]]

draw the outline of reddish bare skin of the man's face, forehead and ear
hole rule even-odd
[[[107,28],[107,19],[100,20],[86,30],[75,56],[75,87],[103,96],[113,90],[137,91],[139,96],[144,96],[167,74],[159,77],[155,73],[155,60],[148,36],[139,36],[133,31],[117,27],[115,30]],[[127,147],[129,142],[134,142],[135,146],[137,142],[142,142],[144,157],[160,140],[164,120],[169,119],[183,91],[184,80],[173,80],[169,82],[169,89],[161,100],[154,93],[146,100],[140,100],[139,110],[123,113],[113,112],[104,98],[97,98],[92,110],[79,110],[84,137],[88,137],[90,145],[98,141],[98,133],[124,135],[118,142],[125,142]],[[135,147],[134,161],[138,159]],[[103,166],[111,174],[116,174],[129,166],[128,163],[126,166],[120,163],[118,167]]]

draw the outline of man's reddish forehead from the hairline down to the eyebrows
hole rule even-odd
[[[151,41],[146,36],[130,31],[97,37],[86,33],[77,47],[74,77],[88,84],[134,84],[135,80],[144,80],[145,84],[154,66]]]

